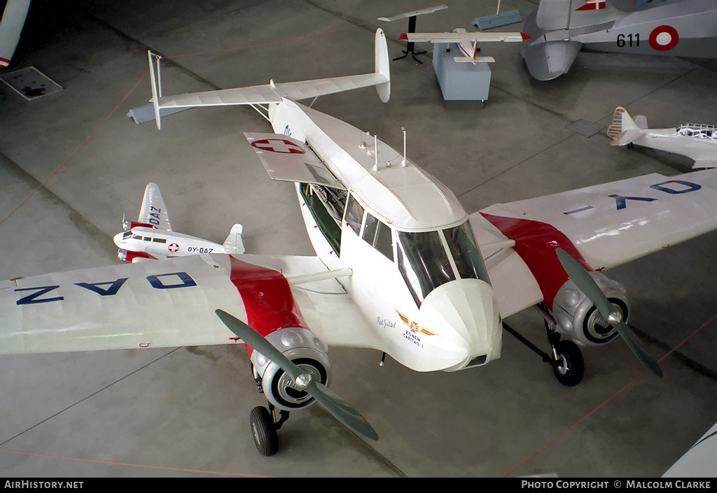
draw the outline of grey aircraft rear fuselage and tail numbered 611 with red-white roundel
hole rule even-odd
[[[521,46],[528,72],[551,80],[568,72],[580,49],[598,52],[717,57],[717,4],[683,0],[635,12],[605,0],[541,0],[528,14]]]

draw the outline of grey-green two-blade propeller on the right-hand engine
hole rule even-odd
[[[602,289],[597,286],[595,280],[588,274],[587,270],[585,270],[574,257],[565,252],[565,250],[558,248],[555,252],[558,254],[558,259],[563,269],[565,269],[565,272],[570,276],[570,279],[573,279],[576,286],[593,302],[604,320],[617,330],[617,333],[621,335],[622,339],[627,343],[627,347],[632,350],[632,353],[635,353],[637,359],[642,361],[642,363],[658,377],[663,376],[663,370],[660,368],[660,365],[657,364],[655,357],[640,344],[640,340],[637,338],[637,335],[632,332],[632,329],[630,329],[625,322],[622,322],[619,313],[614,310],[610,300],[607,299]]]

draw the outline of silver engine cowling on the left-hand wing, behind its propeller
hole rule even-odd
[[[328,361],[328,346],[313,332],[299,327],[284,328],[267,335],[266,339],[295,365],[309,373],[314,381],[329,386],[331,364]],[[279,365],[256,350],[252,351],[251,360],[260,390],[274,406],[284,411],[294,411],[314,402],[309,393],[297,388]]]

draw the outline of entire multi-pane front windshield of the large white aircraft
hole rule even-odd
[[[429,292],[446,282],[455,279],[489,282],[467,221],[440,231],[396,233],[399,270],[419,307]]]

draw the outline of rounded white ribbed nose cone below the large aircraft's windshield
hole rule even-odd
[[[442,370],[457,370],[480,358],[500,358],[503,344],[498,305],[493,289],[479,279],[460,279],[437,287],[419,310],[422,325],[438,332],[434,340],[436,363]]]

